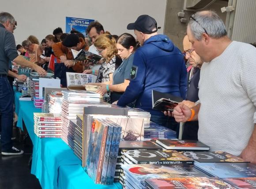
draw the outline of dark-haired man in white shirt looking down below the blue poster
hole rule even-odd
[[[99,55],[96,47],[94,46],[94,42],[95,40],[97,40],[98,36],[105,33],[103,26],[101,25],[101,23],[97,21],[90,22],[86,31],[87,31],[87,34],[90,36],[91,42],[92,42],[92,45],[89,47],[88,51],[96,55]],[[90,69],[98,70],[100,66],[101,64],[90,65]]]

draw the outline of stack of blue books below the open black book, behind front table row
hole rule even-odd
[[[155,124],[152,121],[146,122],[144,124],[144,140],[151,139],[177,139],[177,134],[176,131]]]

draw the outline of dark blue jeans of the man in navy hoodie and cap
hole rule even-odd
[[[177,123],[173,117],[165,116],[165,115],[151,115],[150,120],[156,124],[162,125],[173,131],[176,131],[177,138],[179,137],[180,124]]]

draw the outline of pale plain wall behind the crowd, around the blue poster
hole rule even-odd
[[[105,30],[117,35],[133,34],[126,26],[143,14],[151,15],[163,26],[166,0],[4,0],[0,11],[15,17],[18,26],[14,35],[16,44],[20,44],[29,35],[41,42],[57,27],[65,32],[66,16],[98,20]],[[163,27],[159,33],[163,33]]]

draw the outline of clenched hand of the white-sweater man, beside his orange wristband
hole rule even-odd
[[[191,114],[191,109],[186,105],[177,105],[173,110],[173,116],[177,122],[186,122]]]

